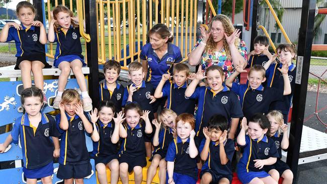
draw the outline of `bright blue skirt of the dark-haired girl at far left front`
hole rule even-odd
[[[29,179],[47,177],[53,174],[53,162],[51,161],[47,165],[35,169],[27,169],[23,167],[23,172],[26,178]]]

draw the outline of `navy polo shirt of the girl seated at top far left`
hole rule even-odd
[[[31,26],[27,29],[21,24],[22,30],[10,27],[6,42],[15,40],[17,54],[16,57],[30,56],[34,54],[45,55],[45,47],[40,43],[40,27]]]

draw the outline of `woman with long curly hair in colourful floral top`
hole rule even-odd
[[[209,25],[209,32],[202,26],[200,30],[202,37],[189,53],[190,65],[200,63],[204,71],[211,65],[219,65],[226,77],[234,72],[236,66],[246,66],[246,44],[238,38],[241,32],[235,30],[227,16],[216,15]]]

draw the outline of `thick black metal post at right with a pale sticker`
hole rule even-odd
[[[288,148],[287,164],[294,174],[293,183],[297,181],[297,167],[300,155],[303,117],[305,111],[306,91],[308,84],[311,46],[313,40],[313,24],[315,13],[315,0],[302,1],[302,15],[298,38],[298,51],[296,62],[296,77],[293,97],[293,113],[290,128],[290,144]]]

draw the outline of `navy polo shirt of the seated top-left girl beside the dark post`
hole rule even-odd
[[[59,29],[59,32],[55,32],[53,42],[57,42],[57,48],[54,59],[56,60],[65,55],[78,55],[81,59],[84,59],[84,56],[81,55],[80,37],[78,27],[73,28],[73,26],[70,26],[67,32],[61,29]]]

